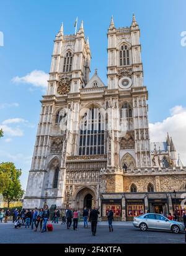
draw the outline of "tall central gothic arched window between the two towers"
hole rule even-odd
[[[105,153],[104,118],[99,108],[91,107],[80,121],[79,155]]]

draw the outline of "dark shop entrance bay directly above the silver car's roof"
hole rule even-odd
[[[148,202],[149,202],[149,212],[164,214],[164,216],[168,216],[169,206],[168,206],[167,198],[148,199]]]

